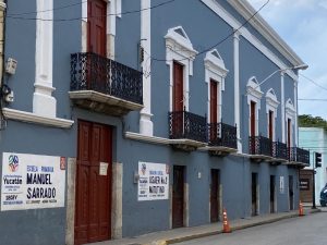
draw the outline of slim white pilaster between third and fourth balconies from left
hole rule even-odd
[[[240,36],[234,33],[234,122],[238,127],[238,152],[242,152],[241,123],[240,123]]]

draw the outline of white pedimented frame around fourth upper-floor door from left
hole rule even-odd
[[[256,103],[255,107],[255,136],[258,136],[258,111],[261,109],[261,99],[264,93],[255,76],[250,77],[246,85],[247,106],[249,106],[249,135],[251,132],[251,101]]]

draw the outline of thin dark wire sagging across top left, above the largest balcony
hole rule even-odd
[[[118,15],[125,15],[125,14],[132,14],[132,13],[140,13],[140,12],[143,12],[143,11],[146,11],[146,10],[153,10],[153,9],[156,9],[156,8],[159,8],[159,7],[162,7],[162,5],[166,5],[168,3],[171,3],[171,2],[174,2],[177,0],[169,0],[169,1],[166,1],[166,2],[161,2],[157,5],[153,5],[153,7],[149,7],[149,8],[144,8],[144,9],[141,9],[141,10],[131,10],[131,11],[125,11],[125,12],[121,12],[121,13],[114,13],[114,14],[106,14],[106,15],[97,15],[97,16],[92,16],[92,17],[105,17],[105,16],[118,16]],[[50,11],[50,10],[47,10],[47,11]],[[15,16],[11,16],[11,15],[8,15],[7,17],[9,19],[13,19],[13,20],[23,20],[23,21],[44,21],[44,22],[71,22],[71,21],[80,21],[80,20],[83,20],[85,17],[72,17],[72,19],[41,19],[41,17],[15,17]]]

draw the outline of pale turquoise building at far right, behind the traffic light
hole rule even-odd
[[[310,167],[300,171],[300,182],[303,183],[301,193],[302,201],[312,203],[312,170],[315,164],[315,152],[322,154],[322,168],[315,169],[315,203],[319,205],[320,191],[327,183],[327,133],[322,127],[299,127],[299,145],[305,149],[310,149]],[[307,184],[306,184],[307,183]]]

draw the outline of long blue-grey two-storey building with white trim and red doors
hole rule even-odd
[[[289,68],[303,61],[246,1],[73,3],[8,2],[4,57],[17,69],[0,132],[3,244],[298,207],[308,151]]]

